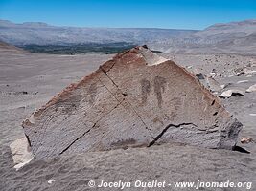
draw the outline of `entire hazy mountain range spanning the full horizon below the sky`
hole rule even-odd
[[[148,44],[151,49],[165,53],[256,54],[256,20],[215,24],[201,31],[56,27],[46,23],[14,24],[0,20],[0,40],[21,47],[34,45],[33,50],[37,50],[35,47],[37,45],[54,45],[54,48],[68,45],[73,49],[74,45],[87,44],[93,46],[93,49],[95,47],[98,49],[97,44],[103,46],[114,44],[116,49],[116,43],[118,43],[125,46]],[[45,53],[48,48],[43,47],[39,50]],[[70,52],[64,49],[64,53]]]

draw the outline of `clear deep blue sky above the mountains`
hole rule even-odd
[[[256,0],[0,0],[0,19],[58,26],[204,29],[256,19]]]

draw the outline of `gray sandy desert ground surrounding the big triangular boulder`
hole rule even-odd
[[[71,82],[90,74],[113,55],[49,55],[20,50],[0,50],[0,190],[94,190],[89,180],[106,181],[166,180],[252,182],[256,189],[256,92],[222,100],[227,110],[237,117],[244,129],[241,137],[253,138],[241,144],[250,154],[212,150],[181,145],[155,145],[151,148],[130,148],[105,152],[81,153],[55,159],[33,160],[15,171],[9,144],[23,137],[21,122],[25,117],[55,96]],[[236,76],[246,67],[256,70],[256,57],[235,54],[172,54],[164,53],[188,70],[203,74],[216,70],[220,84],[228,89],[246,90],[256,83],[256,73]],[[221,74],[221,76],[220,76]],[[243,83],[241,80],[247,80]],[[238,83],[239,82],[239,83]],[[48,180],[55,180],[51,184]],[[200,188],[199,190],[246,190],[246,188]],[[96,189],[97,190],[97,189]],[[105,188],[101,190],[114,190]],[[148,190],[127,188],[126,190]],[[149,189],[150,190],[150,189]],[[179,190],[174,187],[151,190]],[[195,188],[183,188],[195,190]]]

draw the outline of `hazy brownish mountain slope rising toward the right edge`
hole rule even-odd
[[[256,20],[215,24],[181,39],[159,41],[154,46],[168,53],[255,54]]]

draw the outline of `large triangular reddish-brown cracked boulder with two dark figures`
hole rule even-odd
[[[43,159],[167,142],[232,149],[242,124],[197,77],[144,46],[71,84],[23,127]]]

